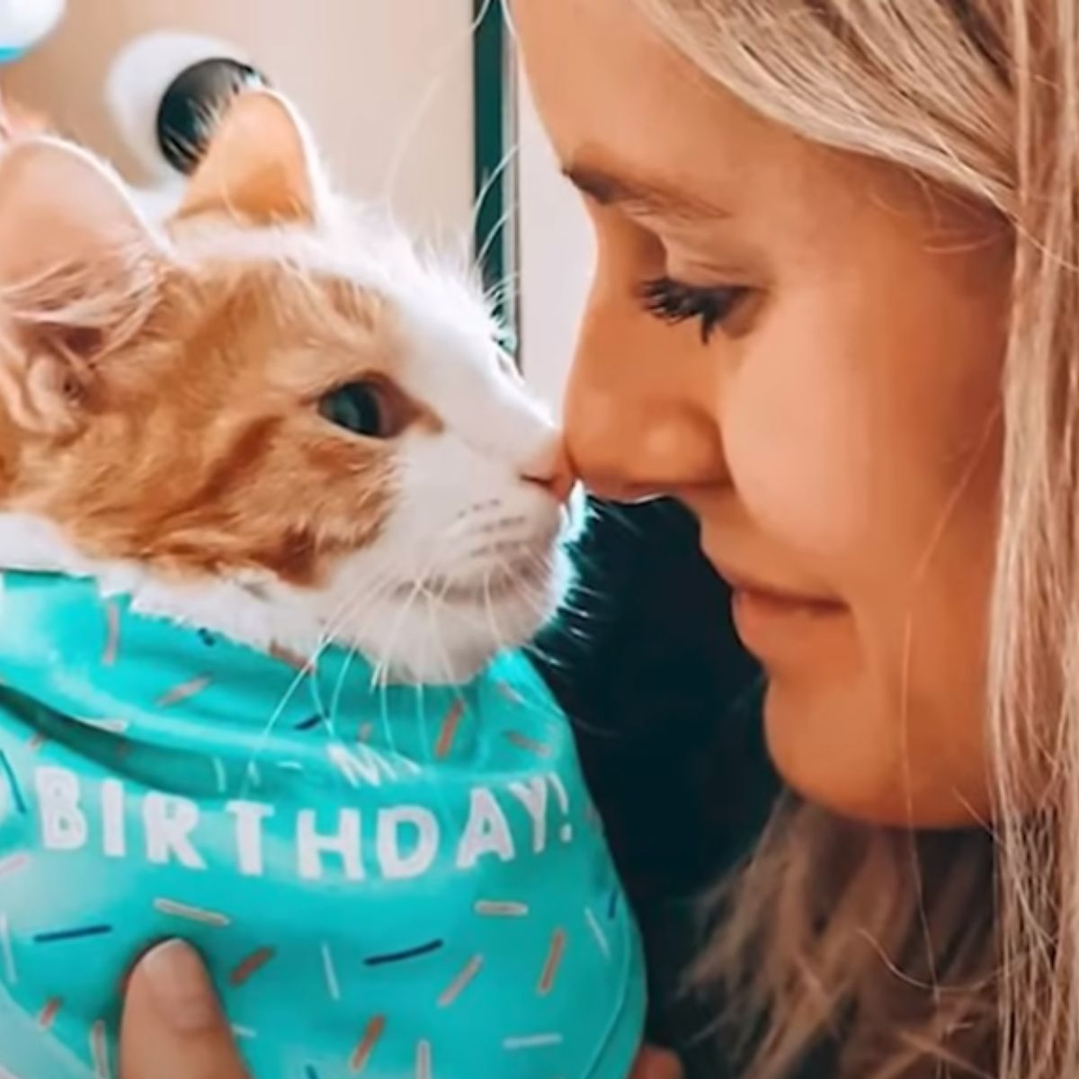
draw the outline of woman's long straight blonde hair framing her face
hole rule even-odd
[[[636,2],[759,113],[1014,230],[994,834],[786,803],[722,889],[701,962],[741,1074],[793,1076],[831,1043],[810,1074],[1079,1076],[1079,0]]]

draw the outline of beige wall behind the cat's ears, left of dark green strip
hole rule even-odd
[[[150,29],[223,38],[297,100],[351,191],[379,197],[405,150],[392,191],[401,216],[467,229],[470,18],[469,0],[71,0],[57,35],[4,83],[131,170],[103,100],[118,50]]]

